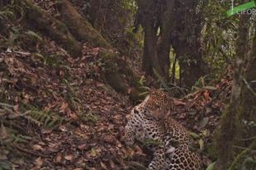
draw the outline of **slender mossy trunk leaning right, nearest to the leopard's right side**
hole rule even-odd
[[[215,145],[218,160],[216,170],[227,170],[233,159],[233,145],[238,135],[239,115],[241,114],[241,89],[244,78],[244,61],[247,54],[248,21],[250,16],[242,15],[239,21],[236,42],[236,61],[233,64],[232,92],[229,104],[219,122]]]

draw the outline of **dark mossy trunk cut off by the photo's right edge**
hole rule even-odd
[[[235,152],[235,158],[228,170],[240,169],[244,159],[254,154],[256,150],[256,33],[252,42],[252,49],[245,67],[243,85],[241,88],[241,102],[239,114],[239,129],[236,145],[244,150]],[[250,123],[245,122],[254,122]],[[250,169],[249,167],[246,167]]]

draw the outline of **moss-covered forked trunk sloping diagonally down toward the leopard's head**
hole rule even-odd
[[[56,4],[60,17],[54,18],[40,10],[31,0],[25,0],[25,20],[30,27],[51,37],[62,46],[71,56],[82,54],[82,42],[105,49],[100,57],[106,64],[106,81],[118,92],[128,94],[131,99],[140,98],[137,81],[139,77],[131,70],[125,60],[122,60],[112,49],[102,35],[84,19],[67,0],[59,0]],[[81,41],[81,42],[80,42]]]

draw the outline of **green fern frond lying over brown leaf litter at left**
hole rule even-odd
[[[44,112],[31,105],[23,105],[23,109],[27,111],[20,116],[26,118],[28,121],[31,121],[40,127],[55,128],[56,126],[59,126],[63,121],[65,121],[64,118],[57,116],[54,113]]]

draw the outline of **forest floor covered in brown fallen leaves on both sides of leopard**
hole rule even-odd
[[[139,144],[121,141],[133,103],[104,83],[101,48],[84,44],[72,58],[53,41],[48,57],[29,52],[0,53],[2,143],[6,169],[127,169],[130,161],[146,166],[150,155]],[[58,55],[53,55],[58,54]],[[175,99],[172,116],[196,139],[203,153],[211,145],[224,99],[227,75],[216,86]],[[11,133],[12,132],[12,133]],[[11,135],[12,134],[12,135]]]

